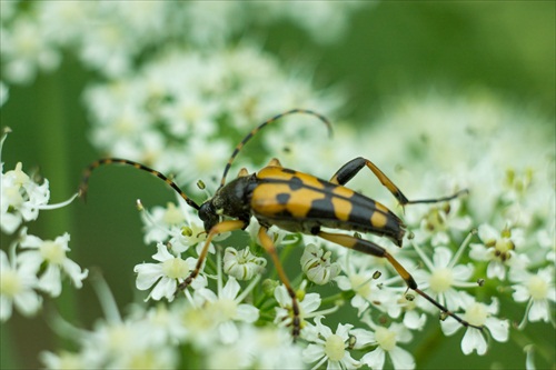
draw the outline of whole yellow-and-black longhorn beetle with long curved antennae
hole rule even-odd
[[[401,247],[406,232],[404,222],[381,203],[346,187],[346,183],[364,167],[367,167],[378,178],[381,184],[388,189],[403,207],[416,203],[449,201],[466,192],[466,190],[456,192],[449,197],[408,200],[378,167],[361,157],[355,158],[344,164],[328,181],[308,173],[284,168],[277,159],[272,159],[259,172],[248,173],[247,169],[244,168],[240,170],[238,178],[226,183],[226,176],[244,146],[264,127],[294,113],[314,116],[322,121],[331,132],[331,124],[328,119],[311,110],[292,109],[268,119],[252,129],[236,146],[230,159],[226,163],[219,188],[212,198],[206,200],[200,206],[165,174],[141,163],[118,158],[101,159],[91,163],[85,171],[80,186],[80,194],[81,197],[86,196],[89,177],[95,169],[102,164],[119,163],[132,166],[136,169],[150,172],[162,179],[181,196],[187,204],[195,208],[203,222],[207,239],[199,254],[197,266],[179,283],[179,290],[189,287],[191,281],[199,274],[202,263],[207,258],[209,244],[216,234],[242,230],[249,224],[250,218],[255,217],[260,223],[258,232],[260,244],[274,260],[278,276],[291,297],[291,310],[294,313],[292,334],[295,338],[299,336],[301,327],[299,304],[296,292],[279,261],[272,239],[268,236],[268,229],[272,224],[290,232],[317,236],[353,250],[385,258],[404,279],[408,289],[414,290],[436,306],[443,312],[443,317],[449,316],[465,327],[483,329],[483,327],[465,321],[420,290],[411,274],[383,247],[355,236],[328,232],[321,229],[325,227],[345,231],[369,232],[386,237],[396,246]]]

